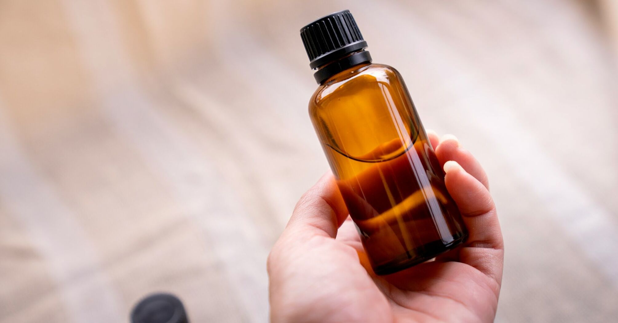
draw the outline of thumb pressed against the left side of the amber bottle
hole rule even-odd
[[[335,238],[337,228],[347,217],[347,209],[332,174],[329,172],[298,200],[286,231],[298,233],[298,238],[315,235]]]

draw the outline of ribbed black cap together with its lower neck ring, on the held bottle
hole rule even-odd
[[[361,62],[371,61],[369,52],[361,51],[367,47],[367,42],[349,10],[333,12],[314,20],[300,29],[300,38],[309,56],[311,69],[345,58],[337,64],[331,64],[336,66],[322,68],[314,74],[320,84],[337,72]],[[360,52],[350,55],[355,51]]]

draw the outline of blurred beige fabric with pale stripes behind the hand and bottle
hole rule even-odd
[[[298,28],[344,8],[488,171],[496,321],[613,321],[602,2],[0,0],[0,322],[126,322],[152,291],[192,322],[267,321],[266,255],[328,168]]]

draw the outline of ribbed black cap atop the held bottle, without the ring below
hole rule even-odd
[[[300,29],[311,69],[320,67],[367,46],[349,10],[316,19]]]

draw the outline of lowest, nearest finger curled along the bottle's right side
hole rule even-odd
[[[504,244],[496,207],[487,188],[459,163],[444,163],[444,182],[459,207],[468,228],[468,241],[459,252],[459,261],[472,265],[500,282]]]

